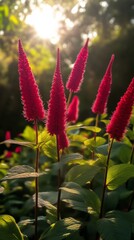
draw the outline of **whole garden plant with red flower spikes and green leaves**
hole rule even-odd
[[[134,78],[109,117],[113,54],[89,106],[94,117],[78,122],[88,42],[66,82],[67,94],[57,49],[48,109],[18,42],[28,125],[15,139],[7,131],[1,142],[0,240],[134,239]]]

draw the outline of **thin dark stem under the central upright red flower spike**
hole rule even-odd
[[[59,141],[58,141],[58,135],[56,135],[56,143],[57,143],[57,159],[59,163],[59,171],[58,171],[58,199],[57,199],[57,221],[60,220],[60,196],[61,196],[61,170],[60,170],[60,153],[59,153]]]

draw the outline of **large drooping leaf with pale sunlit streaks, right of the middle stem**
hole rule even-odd
[[[66,187],[62,187],[61,190],[62,201],[68,203],[73,209],[99,214],[100,200],[92,190],[84,189],[71,182],[67,183]]]

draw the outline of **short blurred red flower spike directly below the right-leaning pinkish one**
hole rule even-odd
[[[67,122],[75,123],[79,117],[79,98],[74,96],[67,111]]]

